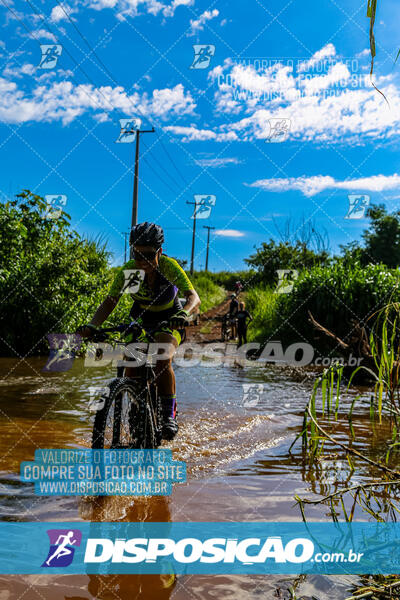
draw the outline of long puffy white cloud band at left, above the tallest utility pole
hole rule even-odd
[[[85,112],[104,120],[104,112],[119,111],[131,115],[134,110],[162,119],[191,114],[195,103],[181,84],[174,88],[154,90],[151,95],[134,92],[128,96],[123,87],[74,85],[70,81],[47,82],[26,95],[17,84],[0,78],[0,121],[61,121],[68,124]],[[100,115],[99,115],[100,113]]]

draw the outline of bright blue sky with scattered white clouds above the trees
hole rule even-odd
[[[217,270],[243,267],[289,218],[313,221],[332,251],[359,239],[348,194],[400,201],[400,6],[380,0],[376,22],[388,106],[369,80],[366,3],[1,0],[1,198],[66,195],[72,226],[102,234],[119,264],[134,144],[115,140],[119,119],[140,117],[156,133],[141,138],[139,220],[165,228],[166,253],[190,257],[194,194],[216,196],[196,268],[203,225]],[[54,43],[57,65],[39,69]],[[195,44],[215,46],[208,68],[190,68]],[[280,142],[270,119],[286,123]]]

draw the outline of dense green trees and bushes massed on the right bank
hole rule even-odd
[[[248,262],[257,266],[259,275],[257,285],[247,293],[247,308],[254,316],[251,339],[322,344],[313,339],[309,311],[318,322],[346,338],[352,323],[360,322],[368,330],[372,315],[388,302],[400,301],[400,214],[387,214],[383,206],[372,206],[367,216],[370,227],[363,233],[362,243],[343,247],[339,257],[306,252],[307,262],[302,266],[298,244],[286,243],[288,258],[278,267],[276,251],[283,247],[272,242],[250,257]],[[290,294],[276,293],[271,264],[299,270]]]

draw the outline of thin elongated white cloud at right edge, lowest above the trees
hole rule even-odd
[[[327,189],[348,191],[383,192],[400,188],[400,175],[372,175],[348,181],[337,181],[329,175],[314,175],[312,177],[288,177],[282,179],[259,179],[249,187],[261,188],[269,192],[287,192],[298,190],[304,196],[310,197]]]

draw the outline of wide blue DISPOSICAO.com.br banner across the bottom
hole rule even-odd
[[[398,523],[1,523],[1,574],[400,573]]]

